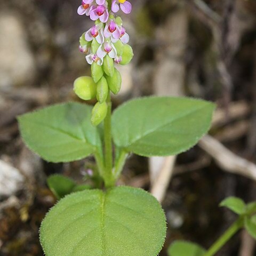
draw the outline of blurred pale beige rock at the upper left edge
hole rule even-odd
[[[35,60],[17,15],[0,13],[0,38],[0,87],[31,83]]]

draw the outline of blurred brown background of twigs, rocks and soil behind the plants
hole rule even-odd
[[[210,135],[176,157],[130,156],[119,184],[151,190],[167,215],[167,238],[209,247],[236,216],[219,209],[227,196],[256,200],[256,1],[133,0],[121,14],[134,59],[118,67],[114,106],[142,95],[186,95],[217,102]],[[80,0],[0,0],[0,255],[43,255],[38,228],[55,198],[53,173],[86,180],[93,159],[51,164],[21,141],[16,117],[78,100],[73,82],[90,74],[78,51],[92,22]],[[93,103],[93,102],[91,102]],[[218,255],[253,256],[237,234]]]

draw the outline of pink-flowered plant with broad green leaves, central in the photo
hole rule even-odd
[[[93,155],[91,185],[54,175],[48,185],[60,201],[47,213],[40,230],[46,256],[156,256],[166,233],[165,215],[145,190],[117,186],[126,158],[179,154],[209,130],[214,105],[203,100],[145,97],[126,102],[111,115],[111,93],[122,85],[118,65],[133,58],[119,10],[126,0],[83,0],[78,14],[94,25],[80,37],[79,50],[91,76],[75,80],[82,100],[94,107],[61,103],[20,116],[27,146],[49,162],[71,162]],[[116,66],[115,66],[116,65]]]

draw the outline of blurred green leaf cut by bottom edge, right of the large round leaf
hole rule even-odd
[[[187,241],[175,241],[168,249],[169,256],[203,256],[205,253],[201,246]]]

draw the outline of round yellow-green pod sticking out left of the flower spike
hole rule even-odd
[[[74,91],[80,99],[91,100],[96,97],[97,85],[90,76],[81,76],[74,82]]]

